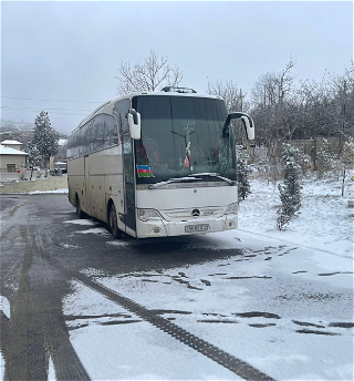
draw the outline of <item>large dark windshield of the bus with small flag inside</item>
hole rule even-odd
[[[228,111],[222,100],[138,95],[132,106],[142,116],[142,138],[134,144],[137,184],[194,174],[236,179],[233,131],[225,128]]]

